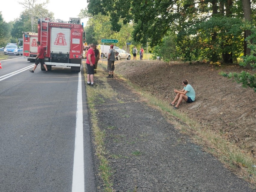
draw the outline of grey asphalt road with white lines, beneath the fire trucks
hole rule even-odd
[[[0,191],[96,191],[83,74],[14,58],[0,69]]]

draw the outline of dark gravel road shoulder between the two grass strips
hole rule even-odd
[[[98,86],[93,89],[107,84],[116,94],[99,94],[93,104],[97,126],[105,133],[114,191],[255,191],[175,129],[125,81],[117,76],[102,81],[104,75],[95,75]],[[97,184],[103,191],[99,163]]]

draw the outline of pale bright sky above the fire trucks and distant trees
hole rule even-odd
[[[2,11],[2,17],[5,22],[14,21],[14,19],[20,17],[20,13],[23,11],[23,5],[20,5],[18,2],[25,2],[25,0],[12,0],[11,4],[5,2],[1,3],[0,11]],[[37,0],[36,3],[45,2],[44,0]],[[73,3],[72,3],[73,2]],[[75,0],[70,1],[59,1],[59,0],[50,0],[50,3],[47,4],[46,9],[54,13],[55,19],[61,19],[63,21],[69,21],[69,17],[78,17],[81,9],[87,7],[86,0]],[[87,22],[87,19],[81,19],[81,22],[84,22],[84,26]]]

